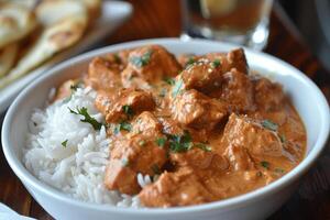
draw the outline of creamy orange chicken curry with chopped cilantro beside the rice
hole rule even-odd
[[[241,48],[175,57],[147,45],[94,58],[80,80],[97,91],[111,140],[106,187],[145,207],[242,195],[304,158],[298,113],[279,84],[249,70]],[[56,99],[77,81],[63,84]],[[139,175],[153,182],[142,188]]]

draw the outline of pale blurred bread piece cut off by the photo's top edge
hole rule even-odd
[[[81,0],[47,0],[35,9],[37,20],[50,26],[67,16],[88,15],[88,9]]]

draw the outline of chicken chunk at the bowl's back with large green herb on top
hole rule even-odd
[[[148,45],[133,50],[129,55],[129,64],[121,74],[124,87],[144,88],[165,77],[174,77],[180,70],[175,56],[163,46]]]

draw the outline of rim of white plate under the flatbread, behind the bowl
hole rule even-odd
[[[25,86],[32,82],[36,77],[43,75],[46,69],[90,48],[94,44],[106,37],[109,33],[113,32],[119,25],[128,20],[132,14],[132,11],[133,9],[130,3],[122,1],[105,1],[101,18],[99,18],[97,23],[94,24],[92,29],[85,34],[78,44],[63,53],[59,53],[44,65],[32,70],[29,75],[0,90],[0,113],[11,105],[13,99],[21,90],[24,89]]]

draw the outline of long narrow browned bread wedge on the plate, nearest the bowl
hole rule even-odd
[[[0,89],[79,41],[87,28],[87,13],[82,13],[63,18],[46,28],[32,48],[19,61],[15,68],[0,79]]]

